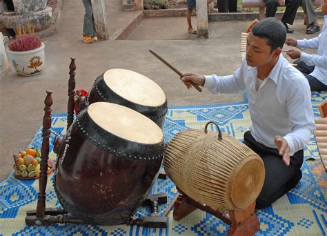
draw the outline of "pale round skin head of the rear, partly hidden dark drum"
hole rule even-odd
[[[135,104],[157,107],[166,102],[166,95],[157,83],[137,72],[111,69],[104,73],[103,79],[117,95]]]

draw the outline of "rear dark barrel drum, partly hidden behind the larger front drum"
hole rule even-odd
[[[110,69],[95,80],[79,110],[97,101],[107,101],[136,110],[164,126],[167,99],[151,79],[132,70]]]

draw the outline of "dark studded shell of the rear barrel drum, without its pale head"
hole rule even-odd
[[[115,70],[115,69],[114,69]],[[118,70],[118,69],[116,69]],[[122,70],[122,69],[121,69]],[[136,73],[136,72],[134,72]],[[84,100],[84,103],[81,104],[80,109],[85,108],[89,104],[98,102],[98,101],[106,101],[113,104],[119,104],[121,106],[126,106],[132,110],[136,110],[140,112],[142,115],[152,119],[155,123],[160,127],[163,128],[165,119],[166,119],[166,112],[167,112],[167,100],[164,101],[162,104],[158,104],[158,106],[144,106],[142,104],[137,104],[135,101],[128,100],[121,95],[117,94],[113,91],[107,84],[105,79],[103,78],[102,74],[95,80],[95,83],[90,88],[88,92],[88,96]],[[132,81],[131,81],[132,83]],[[149,98],[151,99],[151,98]]]

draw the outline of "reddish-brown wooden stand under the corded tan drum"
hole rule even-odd
[[[259,219],[254,213],[255,202],[244,210],[228,210],[228,214],[222,214],[210,206],[200,204],[198,201],[191,199],[188,195],[181,192],[181,190],[178,191],[173,213],[173,217],[177,221],[183,219],[194,210],[200,209],[218,217],[228,224],[230,226],[228,235],[254,235],[260,229]]]

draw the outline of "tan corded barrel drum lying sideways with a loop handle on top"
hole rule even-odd
[[[207,131],[208,124],[204,131],[184,130],[170,141],[164,157],[166,174],[201,204],[243,210],[261,191],[264,163],[234,137]]]

